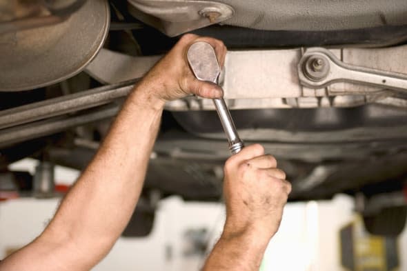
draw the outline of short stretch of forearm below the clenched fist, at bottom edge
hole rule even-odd
[[[228,233],[225,230],[202,271],[259,271],[268,241],[255,232]]]

